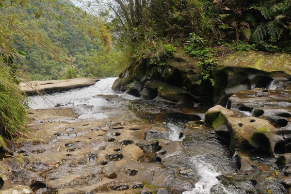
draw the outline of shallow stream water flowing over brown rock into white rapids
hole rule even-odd
[[[178,167],[180,175],[197,180],[193,190],[183,194],[246,194],[243,188],[230,183],[223,184],[217,178],[219,175],[238,171],[234,153],[228,149],[228,140],[204,125],[195,131],[184,130],[186,122],[203,119],[205,110],[117,94],[111,89],[114,80],[115,78],[107,78],[85,88],[42,97],[33,96],[30,97],[30,107],[71,107],[79,115],[78,119],[90,120],[119,116],[115,114],[115,110],[123,109],[131,117],[136,116],[168,129],[168,134],[162,138],[182,142],[184,150],[173,153],[162,163],[168,168]]]

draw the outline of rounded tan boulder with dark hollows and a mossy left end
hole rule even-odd
[[[274,154],[275,145],[282,141],[282,136],[267,120],[256,117],[243,117],[222,106],[211,108],[205,115],[206,123],[213,129],[227,128],[230,134],[230,148],[234,150],[263,148],[271,155]]]

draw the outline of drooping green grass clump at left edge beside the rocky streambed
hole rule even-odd
[[[21,93],[9,67],[0,62],[0,135],[12,139],[25,130],[27,98]]]

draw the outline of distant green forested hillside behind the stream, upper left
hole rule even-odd
[[[123,59],[117,56],[122,55],[112,49],[103,21],[70,1],[6,1],[1,5],[1,18],[10,23],[1,21],[1,38],[22,53],[14,65],[26,80],[70,78],[67,68],[81,77],[113,77],[121,71],[118,60]],[[109,39],[107,45],[100,35]]]

